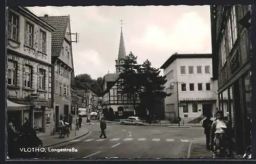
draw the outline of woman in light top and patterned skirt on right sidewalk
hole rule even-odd
[[[229,149],[229,125],[223,119],[223,111],[216,112],[217,120],[214,121],[210,129],[210,147],[213,147],[213,157],[230,157]]]

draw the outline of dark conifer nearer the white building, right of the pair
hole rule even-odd
[[[146,60],[138,74],[140,74],[140,100],[141,106],[145,106],[151,114],[155,114],[154,104],[158,101],[158,98],[165,98],[168,96],[164,92],[164,84],[166,83],[165,76],[159,75],[160,70],[151,66],[151,62]]]

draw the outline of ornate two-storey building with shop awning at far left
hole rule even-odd
[[[25,7],[8,8],[7,117],[53,134],[51,38],[55,29]]]

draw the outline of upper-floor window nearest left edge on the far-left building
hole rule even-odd
[[[18,16],[9,13],[8,18],[8,38],[18,41]]]

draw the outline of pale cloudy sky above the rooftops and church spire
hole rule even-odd
[[[93,79],[115,73],[121,25],[126,54],[160,68],[175,52],[211,53],[210,7],[205,6],[87,6],[28,7],[37,16],[70,15],[75,75]]]

